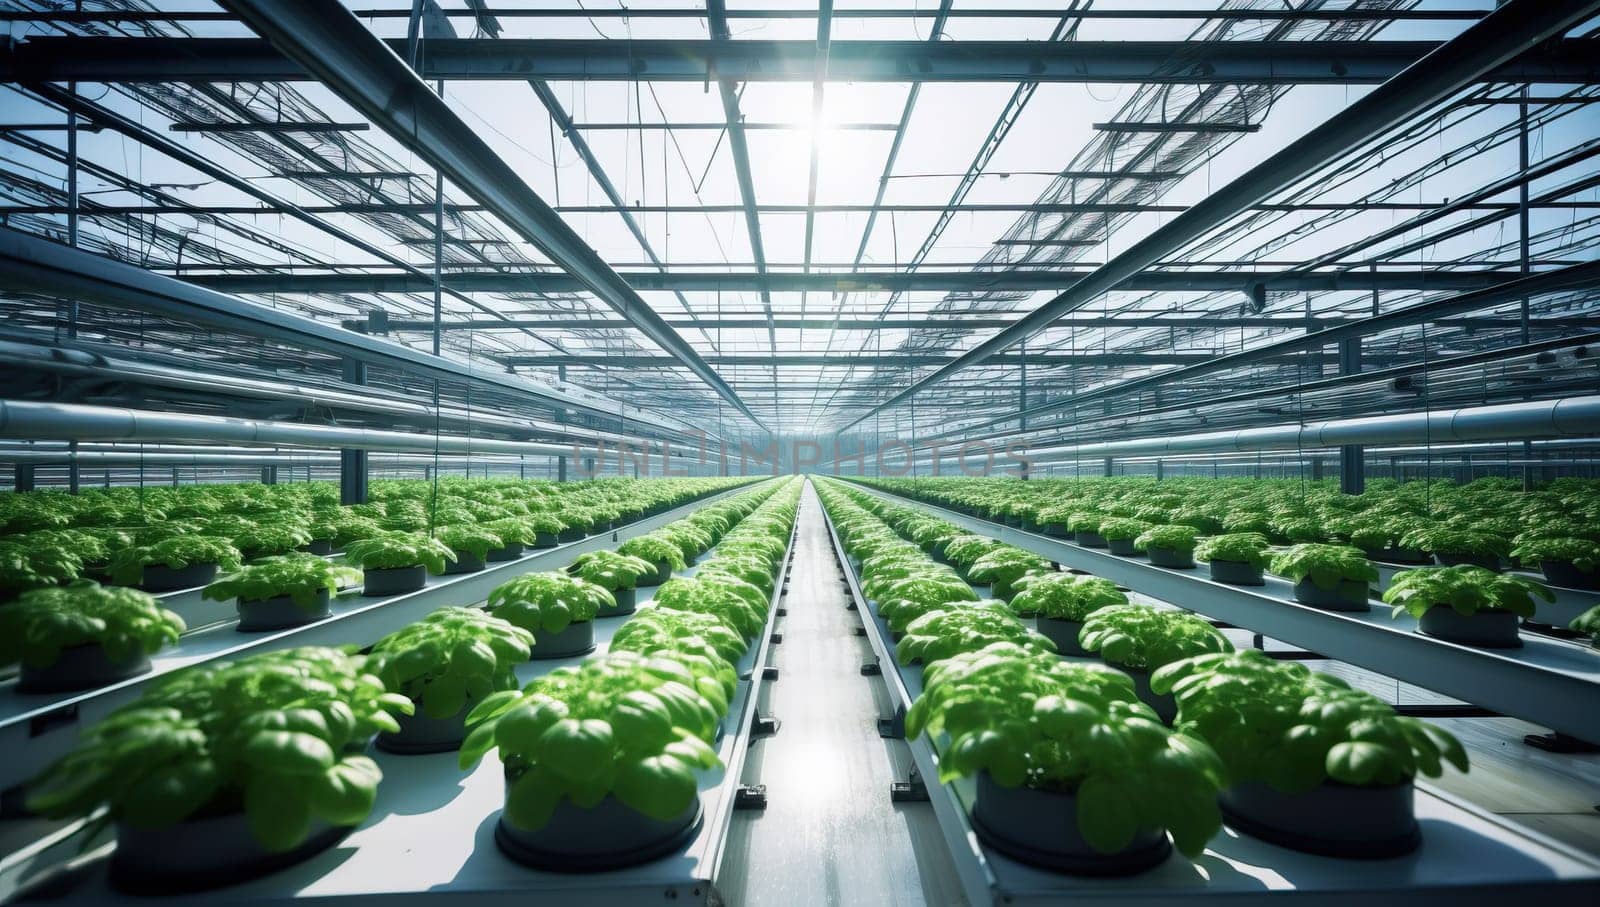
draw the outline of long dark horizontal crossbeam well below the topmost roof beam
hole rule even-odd
[[[270,267],[270,266],[262,266]],[[771,286],[774,293],[989,293],[1062,290],[1083,280],[1088,269],[1010,272],[920,270],[915,274],[755,274],[755,272],[624,272],[640,291],[739,293]],[[1115,290],[1130,293],[1243,293],[1262,283],[1272,293],[1368,293],[1405,290],[1482,290],[1512,272],[1494,270],[1381,270],[1282,274],[1254,270],[1146,270],[1122,280]],[[224,293],[432,293],[422,274],[210,274],[184,280]],[[584,285],[568,274],[453,272],[450,286],[461,293],[581,293]],[[1234,322],[1229,322],[1234,323]]]

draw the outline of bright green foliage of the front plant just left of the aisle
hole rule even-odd
[[[726,709],[715,681],[677,661],[610,653],[488,696],[467,715],[461,766],[499,749],[504,819],[518,829],[542,829],[562,798],[594,808],[606,795],[669,821],[699,795],[696,769],[722,765],[709,741]]]

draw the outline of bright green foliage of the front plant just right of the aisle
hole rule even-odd
[[[1202,741],[1162,726],[1128,675],[1026,646],[992,645],[923,673],[906,713],[912,737],[949,734],[939,781],[989,773],[1002,787],[1077,795],[1077,825],[1096,851],[1141,829],[1171,832],[1198,856],[1222,827],[1222,763]]]

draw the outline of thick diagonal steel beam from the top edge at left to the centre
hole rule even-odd
[[[445,101],[349,10],[312,0],[226,0],[256,34],[299,61],[328,88],[477,198],[522,238],[680,358],[757,426],[762,421],[694,349],[658,315]],[[499,38],[488,40],[490,45]],[[440,48],[424,40],[422,59]],[[426,69],[426,67],[424,67]],[[432,78],[442,75],[429,74]],[[528,75],[522,75],[528,78]]]

